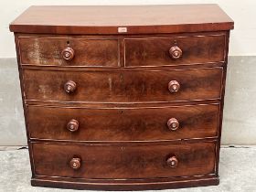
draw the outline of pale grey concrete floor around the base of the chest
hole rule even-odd
[[[71,192],[56,188],[31,187],[27,149],[0,151],[0,192]],[[217,187],[195,187],[165,191],[221,192],[256,191],[256,146],[221,147],[220,184]]]

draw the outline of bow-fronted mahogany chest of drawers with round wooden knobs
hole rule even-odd
[[[31,184],[219,184],[233,21],[218,5],[31,6],[15,33]]]

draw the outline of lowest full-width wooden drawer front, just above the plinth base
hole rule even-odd
[[[32,150],[39,176],[125,179],[215,172],[213,142],[136,146],[35,143]]]

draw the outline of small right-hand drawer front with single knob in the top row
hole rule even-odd
[[[168,66],[224,61],[225,35],[125,38],[125,66]]]

